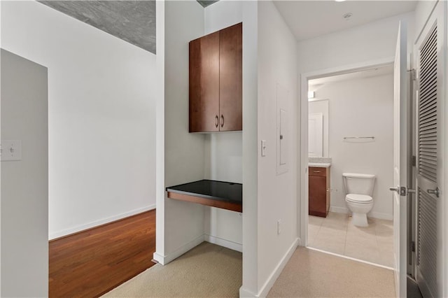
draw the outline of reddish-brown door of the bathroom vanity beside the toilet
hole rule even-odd
[[[327,178],[325,176],[309,176],[309,214],[327,215]]]

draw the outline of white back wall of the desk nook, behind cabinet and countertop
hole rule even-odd
[[[218,1],[204,9],[204,34],[224,29],[242,21],[241,1]],[[243,182],[242,132],[221,132],[205,136],[204,178]],[[241,213],[204,208],[206,240],[242,251],[243,219]]]

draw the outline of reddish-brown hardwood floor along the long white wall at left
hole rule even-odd
[[[99,297],[153,266],[155,210],[49,243],[49,297]]]

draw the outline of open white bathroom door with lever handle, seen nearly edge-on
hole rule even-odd
[[[406,297],[407,276],[407,196],[410,178],[409,76],[407,73],[407,26],[401,22],[395,51],[393,73],[393,247],[395,291]]]

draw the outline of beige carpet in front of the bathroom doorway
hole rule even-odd
[[[395,297],[393,271],[297,248],[267,297]]]

